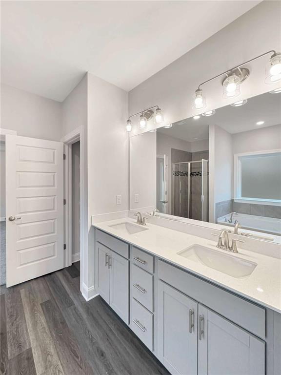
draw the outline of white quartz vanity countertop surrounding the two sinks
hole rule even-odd
[[[95,223],[93,226],[156,255],[181,269],[281,313],[281,259],[244,249],[239,249],[238,254],[229,253],[225,250],[217,249],[216,241],[151,223],[147,223],[145,227],[148,230],[135,234],[126,234],[119,229],[110,227],[125,222],[136,224],[136,220],[123,218]],[[178,254],[181,250],[194,244],[255,262],[257,263],[257,267],[251,275],[236,278]]]

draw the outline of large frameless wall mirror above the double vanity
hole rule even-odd
[[[280,236],[281,92],[131,137],[130,209]]]

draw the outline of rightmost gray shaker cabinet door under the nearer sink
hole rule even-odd
[[[198,374],[264,375],[265,342],[199,305]]]

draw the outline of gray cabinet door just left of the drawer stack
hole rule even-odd
[[[110,252],[110,306],[129,323],[129,261],[116,252]]]

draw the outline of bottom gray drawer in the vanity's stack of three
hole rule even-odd
[[[132,298],[131,329],[153,352],[153,314]]]

